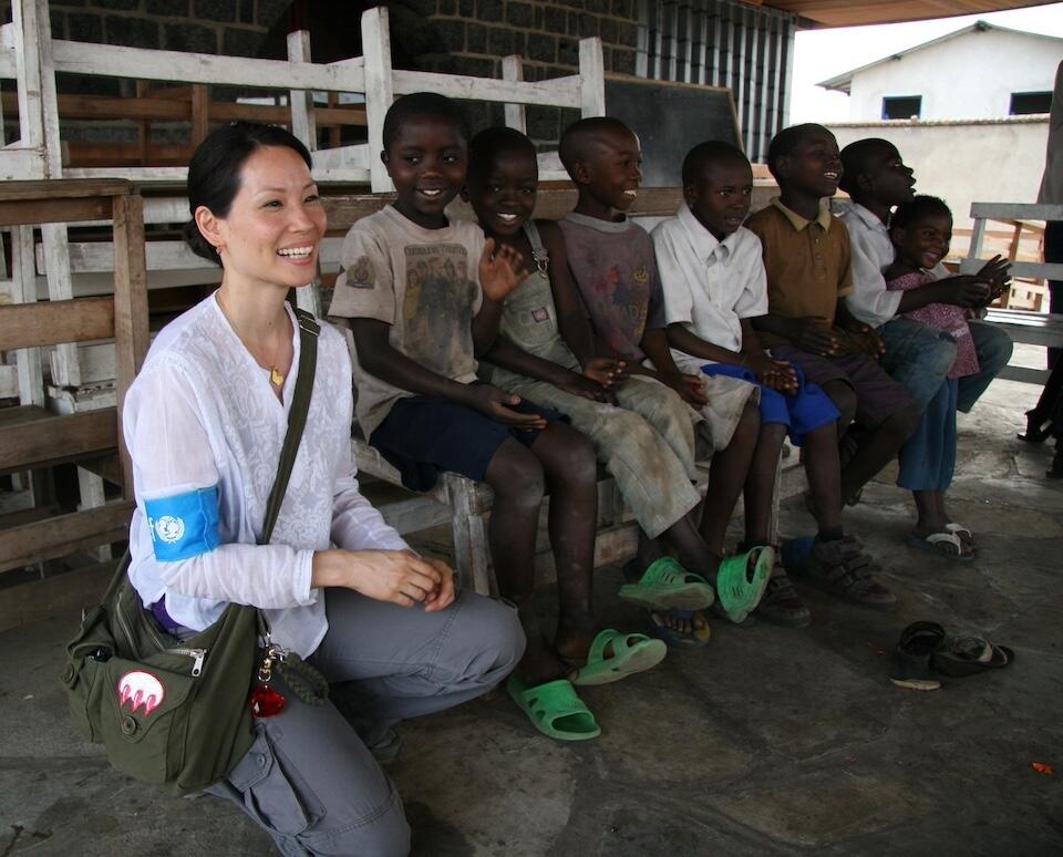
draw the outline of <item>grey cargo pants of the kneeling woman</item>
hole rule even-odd
[[[345,589],[324,597],[329,631],[310,661],[345,682],[354,726],[331,702],[311,708],[278,682],[285,711],[258,721],[251,750],[207,792],[240,806],[285,855],[405,855],[402,801],[367,743],[488,691],[520,660],[524,632],[515,609],[471,592],[437,613]]]

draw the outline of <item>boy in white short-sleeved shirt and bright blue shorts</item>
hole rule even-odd
[[[787,431],[805,450],[819,534],[838,538],[838,410],[818,386],[805,383],[795,366],[767,357],[750,321],[767,313],[761,241],[742,226],[752,190],[750,162],[734,146],[709,142],[688,153],[685,204],[674,219],[653,230],[667,335],[683,371],[729,375],[760,388],[760,438],[742,486],[746,543],[768,544],[775,471]],[[758,609],[781,624],[801,627],[809,621],[808,609],[781,567]]]

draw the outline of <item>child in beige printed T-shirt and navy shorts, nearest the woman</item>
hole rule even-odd
[[[330,313],[348,319],[353,334],[358,421],[403,483],[424,491],[453,471],[494,489],[488,539],[498,588],[516,603],[528,641],[510,692],[545,734],[591,739],[600,730],[571,680],[615,681],[658,663],[665,647],[597,630],[590,443],[560,414],[476,376],[476,353],[493,338],[485,308],[525,271],[512,248],[444,213],[465,183],[467,138],[458,106],[442,95],[406,95],[390,107],[381,157],[398,198],[348,233]],[[547,487],[560,598],[553,643],[533,603]],[[585,663],[574,670],[570,661]]]

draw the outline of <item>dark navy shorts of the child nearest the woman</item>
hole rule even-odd
[[[539,414],[548,422],[567,422],[557,411],[524,400],[513,410]],[[442,471],[481,481],[507,437],[530,446],[538,436],[538,428],[516,428],[446,399],[415,395],[391,406],[369,443],[399,469],[403,485],[411,491],[430,491]]]

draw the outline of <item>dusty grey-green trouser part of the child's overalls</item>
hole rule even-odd
[[[691,485],[696,476],[693,412],[664,384],[632,375],[616,390],[618,407],[508,372],[496,372],[492,383],[567,415],[595,444],[598,461],[650,538],[701,502]]]

